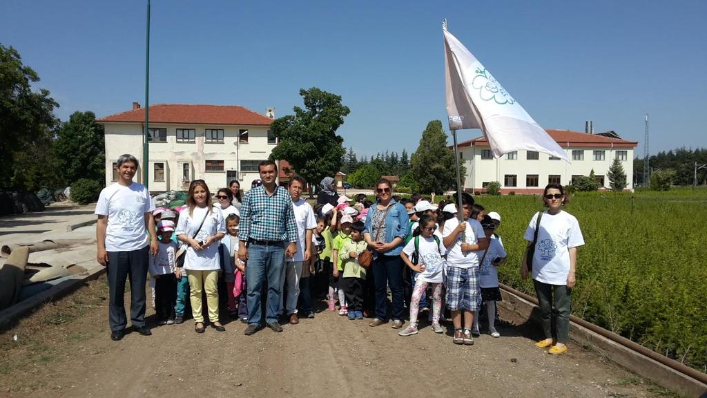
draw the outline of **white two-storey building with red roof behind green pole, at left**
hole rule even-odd
[[[211,191],[226,188],[238,178],[250,189],[258,178],[258,163],[276,146],[269,117],[242,106],[157,104],[150,106],[149,189],[185,191],[189,182],[203,179]],[[115,161],[132,154],[144,167],[145,109],[133,109],[96,120],[105,127],[105,183],[117,181]],[[136,174],[142,182],[143,172]]]

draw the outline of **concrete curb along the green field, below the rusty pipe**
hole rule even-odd
[[[498,302],[499,309],[539,324],[539,311],[536,305],[503,289],[501,290],[501,296],[503,301]],[[612,362],[669,390],[679,392],[679,394],[684,394],[687,397],[707,397],[707,385],[703,382],[668,368],[656,360],[633,351],[631,348],[622,346],[615,341],[611,341],[574,322],[570,322],[570,339],[578,343],[578,345],[588,347]]]

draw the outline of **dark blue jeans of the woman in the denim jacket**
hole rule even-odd
[[[393,299],[393,319],[404,319],[403,266],[404,263],[400,256],[378,254],[378,257],[373,260],[371,268],[373,268],[373,280],[375,282],[375,317],[381,321],[387,319],[387,286],[390,286],[390,295],[392,295]]]

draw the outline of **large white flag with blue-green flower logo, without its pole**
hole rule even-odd
[[[446,29],[443,32],[450,130],[480,128],[496,157],[525,149],[569,161],[562,147],[503,89],[467,47]]]

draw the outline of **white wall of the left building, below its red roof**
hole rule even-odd
[[[105,183],[110,185],[115,181],[113,164],[120,155],[132,154],[140,161],[141,166],[144,164],[142,144],[144,127],[141,123],[103,123],[103,125],[105,126]],[[268,126],[151,123],[150,128],[165,128],[167,133],[165,142],[153,141],[149,144],[151,192],[184,191],[189,188],[189,181],[203,179],[215,193],[218,188],[225,188],[228,181],[236,175],[241,187],[245,190],[250,189],[252,181],[259,178],[257,162],[268,159],[275,147],[274,142],[268,142]],[[177,142],[177,129],[194,129],[194,142]],[[223,142],[206,142],[204,136],[206,129],[223,130]],[[237,147],[236,140],[240,130],[248,130],[248,140],[247,143],[240,142]],[[207,161],[210,170],[207,170]],[[223,162],[223,166],[218,162]],[[156,164],[163,169],[163,178],[156,176]],[[142,183],[142,179],[142,171],[139,171],[135,181]]]

